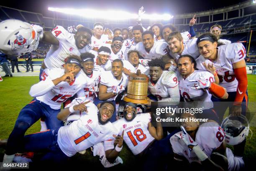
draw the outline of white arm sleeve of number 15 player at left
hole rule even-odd
[[[29,91],[29,94],[32,97],[38,97],[46,94],[49,92],[55,85],[51,81],[53,80],[49,75],[51,73],[51,69],[45,69],[44,72],[41,74],[41,78],[43,78],[40,82],[37,84],[34,84]]]

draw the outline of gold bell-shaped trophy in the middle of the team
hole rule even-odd
[[[146,104],[148,103],[148,76],[141,74],[141,70],[132,73],[128,77],[127,96],[124,97],[125,102],[133,102]]]

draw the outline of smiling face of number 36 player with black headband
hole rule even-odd
[[[218,43],[215,41],[212,43],[211,41],[200,41],[197,46],[199,53],[206,59],[214,61],[217,58],[217,45]]]

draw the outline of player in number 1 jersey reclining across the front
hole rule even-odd
[[[113,103],[103,102],[98,110],[92,102],[83,102],[61,110],[57,118],[61,121],[65,120],[71,113],[77,111],[86,112],[86,115],[81,115],[68,126],[26,135],[23,137],[24,143],[16,148],[15,152],[48,151],[41,161],[63,163],[78,151],[84,151],[102,141],[105,141],[106,150],[113,149],[113,145],[106,141],[114,139],[113,135],[117,135],[117,130],[109,122],[115,111]],[[8,163],[12,160],[5,157],[3,162]]]

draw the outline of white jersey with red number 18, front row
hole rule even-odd
[[[113,123],[119,135],[122,135],[124,130],[123,140],[134,155],[141,153],[155,139],[148,131],[150,121],[149,113],[141,113],[130,122],[122,118]]]

